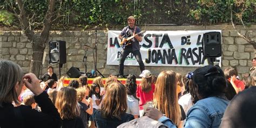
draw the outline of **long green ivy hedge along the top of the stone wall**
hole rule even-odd
[[[32,28],[41,29],[49,0],[25,0],[26,15]],[[127,24],[126,18],[133,15],[137,24],[208,24],[230,23],[231,5],[234,11],[234,22],[240,19],[255,22],[256,0],[62,0],[55,5],[53,28],[83,28],[89,29],[98,26],[116,26]],[[12,6],[12,7],[11,7]],[[253,8],[252,8],[253,7]],[[0,14],[2,25],[14,25],[15,12],[19,13],[15,1],[0,0],[0,8],[5,14]],[[2,12],[2,11],[1,11]],[[3,20],[3,16],[10,16]],[[17,13],[17,14],[18,14]],[[60,16],[60,17],[59,17]],[[8,20],[6,20],[8,19]],[[3,23],[8,22],[8,23]]]

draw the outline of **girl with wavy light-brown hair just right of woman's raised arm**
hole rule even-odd
[[[63,87],[57,93],[55,106],[62,118],[62,127],[84,127],[79,117],[80,109],[77,103],[77,91],[73,87]]]

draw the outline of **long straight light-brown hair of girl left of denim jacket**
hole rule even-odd
[[[158,75],[153,106],[170,118],[176,126],[181,123],[178,104],[177,79],[174,71],[162,71]]]

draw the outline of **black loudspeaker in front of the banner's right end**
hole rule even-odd
[[[203,55],[205,57],[221,56],[221,34],[220,32],[204,33]]]

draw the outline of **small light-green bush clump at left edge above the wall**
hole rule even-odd
[[[11,25],[13,25],[14,21],[15,21],[14,14],[12,14],[6,10],[0,11],[0,24],[6,25],[6,26],[11,26]]]

